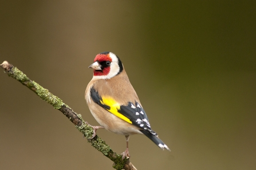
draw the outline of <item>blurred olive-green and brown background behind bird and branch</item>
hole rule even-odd
[[[121,58],[153,130],[137,169],[256,168],[255,1],[1,1],[7,60],[98,125],[84,100],[97,53]],[[0,169],[113,169],[58,110],[0,74]],[[125,138],[97,131],[121,153]]]

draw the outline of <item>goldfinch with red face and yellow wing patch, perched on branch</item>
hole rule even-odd
[[[127,147],[122,158],[129,158],[128,140],[130,135],[147,136],[161,149],[171,151],[157,133],[151,129],[147,114],[140,104],[119,57],[112,52],[96,55],[93,64],[93,78],[85,90],[85,100],[93,117],[100,126],[92,126],[93,135],[97,129],[124,135]],[[90,140],[89,139],[89,140]]]

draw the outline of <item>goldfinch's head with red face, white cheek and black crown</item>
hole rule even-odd
[[[103,52],[97,54],[89,68],[93,69],[94,77],[109,79],[123,71],[123,64],[114,53]]]

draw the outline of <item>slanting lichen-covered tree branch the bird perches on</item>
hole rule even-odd
[[[90,139],[90,137],[93,135],[93,129],[82,119],[81,114],[74,112],[73,109],[64,104],[60,98],[50,93],[48,89],[45,89],[36,82],[31,81],[26,74],[22,73],[15,66],[9,64],[9,62],[3,61],[0,66],[8,76],[21,82],[21,84],[25,85],[27,88],[36,93],[42,100],[52,105],[54,109],[60,110],[71,122],[73,122],[78,131],[84,134],[87,140]],[[122,156],[118,155],[116,152],[113,152],[109,145],[107,145],[99,136],[96,135],[92,140],[88,140],[88,143],[103,153],[104,156],[111,159],[114,163],[113,168],[137,170],[129,159],[125,158],[123,160]]]

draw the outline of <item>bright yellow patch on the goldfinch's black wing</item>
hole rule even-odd
[[[115,116],[123,119],[124,121],[128,122],[129,124],[132,124],[132,122],[131,122],[131,120],[129,120],[129,118],[125,117],[123,114],[121,114],[117,111],[117,110],[120,110],[120,104],[118,102],[116,102],[111,97],[102,96],[101,98],[102,98],[102,101],[100,100],[101,104],[107,105],[110,107],[109,110],[107,109],[109,112],[111,112]]]

